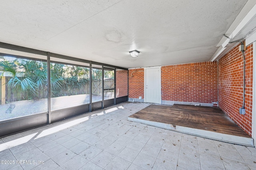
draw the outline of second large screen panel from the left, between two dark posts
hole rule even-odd
[[[90,69],[50,63],[51,110],[90,103]]]

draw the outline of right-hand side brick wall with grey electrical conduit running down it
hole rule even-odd
[[[245,115],[239,113],[243,101],[243,57],[239,45],[219,59],[219,107],[250,136],[252,136],[252,51],[252,44],[248,45],[245,51]]]

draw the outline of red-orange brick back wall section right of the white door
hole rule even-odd
[[[162,100],[217,102],[217,62],[167,65],[161,68]]]

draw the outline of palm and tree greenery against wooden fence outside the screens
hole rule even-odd
[[[15,94],[24,99],[47,97],[46,62],[11,57],[1,57],[0,61],[0,70],[11,75],[7,81],[9,89],[22,92]],[[90,69],[87,67],[50,63],[50,74],[51,97],[89,93]],[[109,78],[114,78],[114,71],[104,70],[104,79]],[[102,69],[92,69],[92,80],[102,81]]]

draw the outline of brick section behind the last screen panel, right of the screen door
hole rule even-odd
[[[128,70],[116,70],[116,97],[128,95]]]

